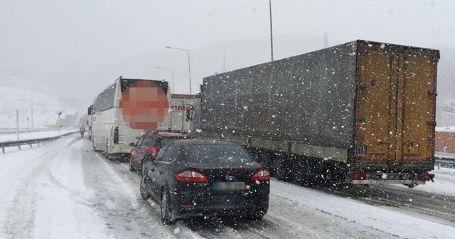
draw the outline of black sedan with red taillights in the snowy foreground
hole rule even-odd
[[[144,163],[141,196],[161,204],[163,223],[200,216],[260,220],[269,208],[270,174],[240,145],[208,139],[169,142]]]

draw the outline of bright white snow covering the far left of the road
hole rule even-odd
[[[80,159],[62,150],[77,140],[0,155],[0,238],[110,238],[87,200]]]

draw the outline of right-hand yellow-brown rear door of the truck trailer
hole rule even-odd
[[[400,57],[397,160],[427,161],[434,156],[436,59],[412,54]]]

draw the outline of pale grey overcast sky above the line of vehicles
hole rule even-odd
[[[274,55],[323,48],[326,32],[329,46],[365,39],[444,56],[455,53],[454,13],[455,1],[272,0]],[[0,0],[0,84],[42,85],[90,105],[119,75],[171,80],[159,65],[174,69],[176,93],[188,93],[186,52],[166,46],[190,50],[193,93],[223,65],[267,62],[269,1]]]

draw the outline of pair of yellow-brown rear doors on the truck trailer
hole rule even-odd
[[[437,58],[380,47],[359,53],[355,154],[386,163],[432,158]]]

